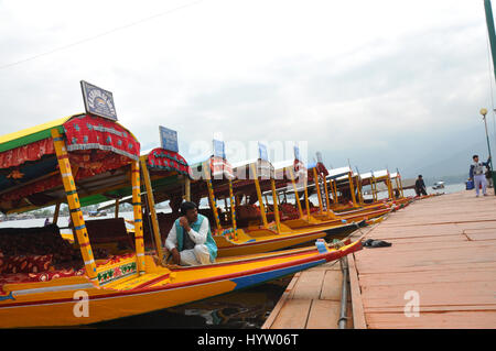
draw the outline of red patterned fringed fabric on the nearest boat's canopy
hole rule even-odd
[[[76,180],[84,179],[97,174],[119,168],[129,164],[130,160],[139,160],[140,144],[134,136],[118,123],[87,114],[71,118],[62,124],[64,139],[67,145],[73,176]],[[15,184],[11,191],[6,187],[0,196],[0,202],[15,201],[28,196],[53,189],[62,185],[58,173],[51,176],[30,180],[22,186],[23,174],[18,167],[33,167],[35,162],[45,155],[54,155],[55,149],[52,138],[35,141],[19,147],[14,147],[0,153],[0,168],[10,172],[8,178],[15,178]],[[14,167],[13,169],[9,169]],[[55,172],[43,168],[44,174]],[[7,190],[7,191],[6,191]]]

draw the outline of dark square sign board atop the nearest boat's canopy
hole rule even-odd
[[[114,96],[110,91],[84,80],[80,81],[80,89],[83,91],[86,113],[117,121]]]

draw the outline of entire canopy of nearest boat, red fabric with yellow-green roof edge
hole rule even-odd
[[[65,142],[80,206],[119,197],[140,143],[116,121],[74,114],[0,138],[0,210],[22,212],[66,201],[52,130]]]

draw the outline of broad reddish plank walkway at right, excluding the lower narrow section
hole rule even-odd
[[[365,327],[496,328],[494,195],[462,191],[416,201],[367,238],[392,246],[355,255],[360,298],[354,305]],[[418,317],[407,316],[411,294],[418,294]]]

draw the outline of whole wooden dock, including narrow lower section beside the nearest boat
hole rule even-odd
[[[369,228],[365,239],[392,246],[348,255],[347,327],[496,328],[496,197],[489,194],[418,200]],[[295,275],[262,328],[337,328],[341,287],[338,263]]]

